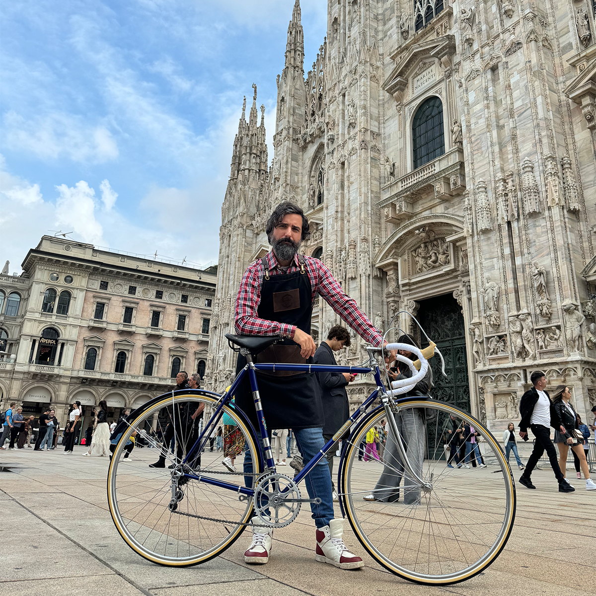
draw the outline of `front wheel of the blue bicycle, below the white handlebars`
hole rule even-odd
[[[389,413],[412,471],[392,432],[383,462],[375,449],[358,460],[367,432],[387,419],[384,408],[375,409],[342,460],[343,504],[356,536],[381,566],[412,582],[448,585],[477,575],[505,547],[515,517],[515,485],[501,448],[476,418],[447,403],[408,401]],[[452,441],[454,421],[482,442],[466,442],[471,432]]]

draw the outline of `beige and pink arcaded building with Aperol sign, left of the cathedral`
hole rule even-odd
[[[0,275],[0,403],[38,415],[105,399],[110,418],[204,374],[215,271],[42,237],[23,275]],[[0,346],[0,348],[2,348]],[[14,356],[14,357],[11,357]]]

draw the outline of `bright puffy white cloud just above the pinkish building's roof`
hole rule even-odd
[[[103,244],[103,228],[95,219],[95,191],[84,180],[74,187],[61,184],[56,190],[60,193],[56,201],[56,225],[66,226],[83,242]]]

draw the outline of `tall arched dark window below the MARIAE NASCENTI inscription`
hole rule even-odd
[[[414,169],[445,153],[443,104],[438,97],[429,97],[415,113],[412,120],[412,146]]]

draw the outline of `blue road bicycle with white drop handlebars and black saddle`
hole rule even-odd
[[[380,349],[369,348],[367,365],[360,367],[255,364],[256,355],[280,337],[226,337],[248,364],[224,395],[200,389],[165,393],[116,429],[120,439],[108,471],[108,503],[117,530],[135,552],[163,565],[194,565],[224,552],[253,517],[263,526],[287,526],[303,503],[312,502],[303,495],[301,481],[336,449],[337,440],[348,436],[341,442],[334,479],[340,499],[336,517],[349,519],[370,555],[365,559],[369,566],[412,582],[447,585],[473,577],[498,557],[516,511],[510,467],[496,439],[467,412],[428,396],[403,397],[426,373],[429,364],[421,350],[409,344],[386,346],[419,358],[417,370],[398,356],[412,377],[391,382]],[[257,417],[255,429],[232,402],[249,375],[254,405],[262,414],[257,371],[372,375],[375,389],[292,477],[275,466],[265,418]],[[389,424],[383,461],[364,461],[361,445],[381,420]],[[219,426],[223,451],[209,440]],[[483,461],[464,457],[470,429],[475,441],[482,440]],[[131,440],[136,448],[125,460]],[[163,468],[148,467],[156,452],[166,457]],[[245,458],[253,462],[250,471],[244,471]]]

